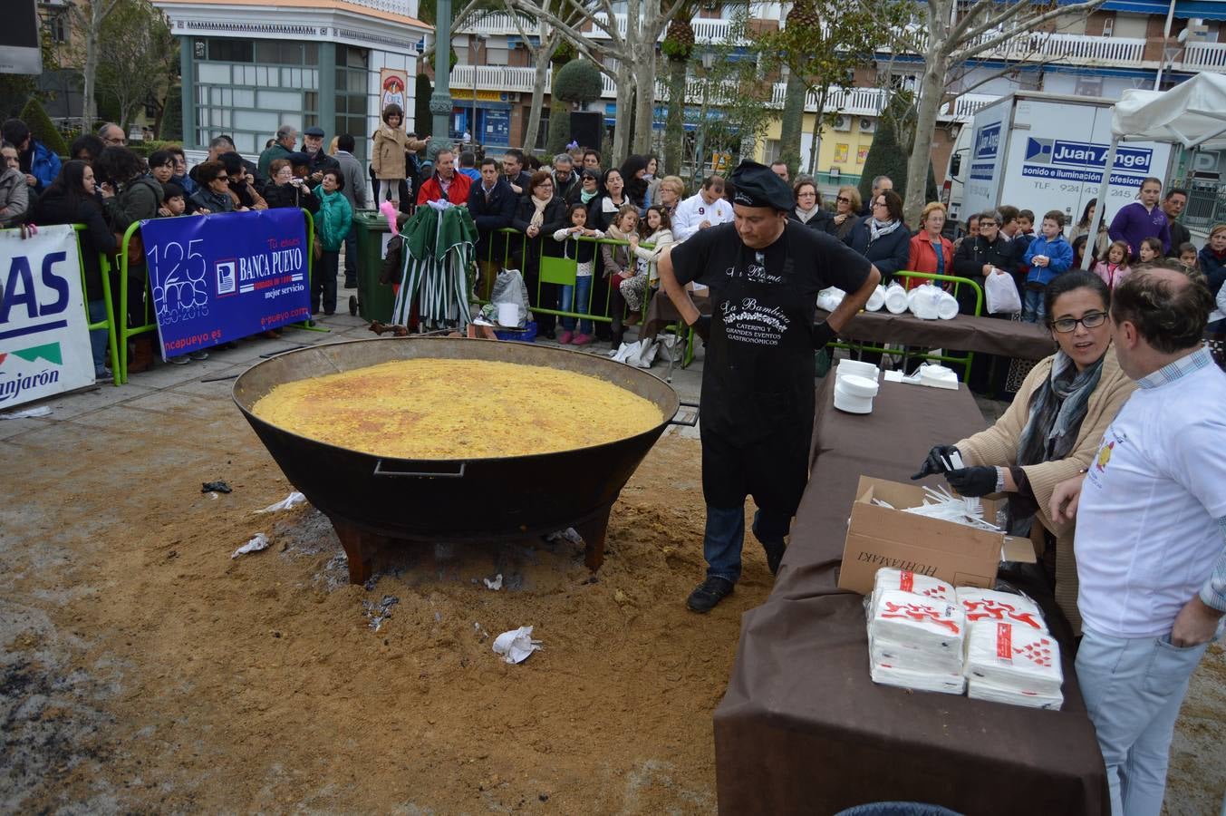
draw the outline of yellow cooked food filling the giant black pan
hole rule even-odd
[[[401,360],[284,383],[253,412],[299,436],[397,459],[522,456],[604,444],[660,409],[586,374],[485,360]]]

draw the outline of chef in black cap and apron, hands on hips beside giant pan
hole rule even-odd
[[[753,533],[771,573],[809,479],[813,353],[868,301],[880,274],[834,237],[788,221],[792,189],[769,167],[742,162],[733,223],[673,244],[660,280],[682,319],[705,341],[702,363],[702,496],[706,580],[687,605],[707,612],[741,577],[745,497],[758,504]],[[714,314],[699,315],[684,286],[711,290]],[[814,324],[818,292],[847,292],[825,323]]]

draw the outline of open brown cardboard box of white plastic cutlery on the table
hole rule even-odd
[[[890,509],[874,504],[874,498],[895,508],[918,507],[923,504],[924,491],[917,485],[859,477],[843,545],[840,589],[872,593],[873,577],[881,567],[910,569],[954,587],[991,588],[1000,561],[1035,561],[1030,539]],[[983,499],[986,519],[996,518],[997,506]]]

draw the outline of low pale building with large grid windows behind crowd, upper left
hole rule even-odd
[[[354,136],[359,158],[392,83],[413,110],[429,27],[417,0],[154,0],[179,39],[184,148],[229,135],[255,156],[289,124]]]

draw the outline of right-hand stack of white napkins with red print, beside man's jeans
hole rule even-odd
[[[967,587],[958,590],[958,601],[970,629],[967,696],[1058,709],[1064,703],[1060,648],[1038,606],[1021,595]]]

